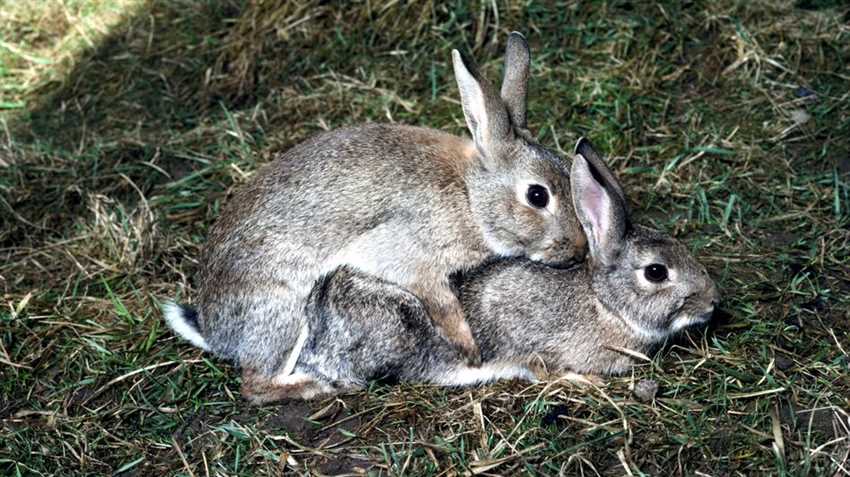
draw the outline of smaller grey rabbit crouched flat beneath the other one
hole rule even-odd
[[[633,364],[628,350],[650,353],[707,322],[719,293],[705,268],[673,238],[632,224],[621,187],[589,142],[577,151],[570,182],[588,259],[559,269],[507,258],[458,278],[480,367],[440,336],[414,294],[343,265],[311,292],[310,336],[274,399],[310,399],[377,379],[467,386],[622,374]]]

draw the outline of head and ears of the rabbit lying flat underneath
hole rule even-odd
[[[705,267],[670,236],[633,225],[613,174],[587,141],[576,150],[570,181],[600,314],[647,341],[708,321],[719,293]]]

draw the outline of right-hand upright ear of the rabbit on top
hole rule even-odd
[[[528,98],[528,67],[531,53],[525,37],[519,32],[508,36],[505,48],[505,73],[502,77],[502,101],[514,127],[526,129],[525,111]]]

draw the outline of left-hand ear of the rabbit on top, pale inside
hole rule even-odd
[[[478,77],[475,66],[466,62],[457,50],[452,50],[452,63],[469,132],[485,164],[495,166],[498,144],[513,134],[505,104],[487,80]]]

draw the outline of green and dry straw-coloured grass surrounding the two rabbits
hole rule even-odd
[[[843,2],[6,0],[0,19],[3,475],[850,474]],[[465,134],[449,51],[496,78],[513,29],[540,141],[591,137],[728,319],[603,385],[247,407],[157,310],[191,297],[221,204],[323,129]]]

